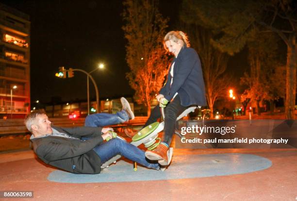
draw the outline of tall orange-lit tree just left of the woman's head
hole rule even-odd
[[[122,27],[126,45],[126,60],[131,69],[127,79],[135,90],[134,98],[148,107],[159,92],[168,70],[168,59],[162,45],[167,19],[158,11],[157,0],[125,0]]]

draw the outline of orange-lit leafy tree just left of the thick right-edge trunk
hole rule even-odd
[[[277,39],[269,34],[256,35],[257,41],[252,39],[247,44],[250,72],[241,78],[241,84],[246,84],[248,89],[244,92],[257,105],[257,114],[261,115],[260,102],[277,99],[280,91],[275,90],[271,80],[275,78],[271,73],[279,61],[277,58]]]

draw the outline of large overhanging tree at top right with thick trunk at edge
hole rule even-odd
[[[195,23],[216,30],[213,45],[230,54],[241,50],[257,33],[277,34],[287,46],[285,117],[294,119],[297,69],[297,1],[184,0]]]

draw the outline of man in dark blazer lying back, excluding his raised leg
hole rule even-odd
[[[161,169],[159,164],[149,163],[145,152],[117,138],[112,137],[112,128],[52,127],[43,111],[33,111],[26,119],[27,129],[33,134],[31,140],[36,155],[46,164],[76,174],[100,173],[101,164],[117,154],[135,161],[147,168]],[[83,137],[90,138],[83,140]],[[168,157],[171,159],[171,155]]]

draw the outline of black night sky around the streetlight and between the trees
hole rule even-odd
[[[73,78],[55,77],[58,67],[80,68],[87,72],[99,63],[104,70],[92,73],[100,99],[132,97],[125,73],[129,67],[125,60],[122,1],[120,0],[0,0],[16,8],[31,19],[31,101],[42,103],[51,97],[62,101],[86,100],[86,75],[75,72]],[[169,17],[168,31],[179,29],[180,0],[161,0],[160,12]],[[190,39],[191,40],[191,39]],[[238,65],[241,67],[238,68]],[[238,69],[236,77],[247,70],[246,53],[231,58],[229,69]],[[233,70],[232,70],[233,71]],[[90,97],[95,90],[90,82]]]

